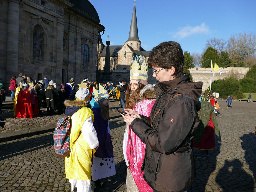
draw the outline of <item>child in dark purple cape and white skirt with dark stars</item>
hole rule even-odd
[[[99,148],[96,151],[92,167],[92,180],[100,183],[99,179],[116,174],[113,145],[109,129],[109,93],[99,85],[99,91],[93,88],[94,97],[90,102],[95,121],[93,126],[99,139]]]

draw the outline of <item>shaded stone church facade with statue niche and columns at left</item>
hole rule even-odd
[[[96,79],[99,33],[104,26],[88,0],[0,1],[0,76],[8,90],[12,76],[55,83]]]

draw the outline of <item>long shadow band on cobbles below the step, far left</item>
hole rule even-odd
[[[49,142],[49,140],[51,142]],[[0,144],[0,161],[9,157],[13,157],[19,154],[27,153],[52,145],[53,134],[6,144]]]

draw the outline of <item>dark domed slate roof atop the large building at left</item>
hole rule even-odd
[[[71,10],[96,23],[99,23],[99,15],[88,0],[69,0],[69,2],[74,4],[74,6],[70,8]]]

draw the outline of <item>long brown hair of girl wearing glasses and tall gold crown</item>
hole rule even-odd
[[[128,90],[126,93],[126,103],[125,108],[132,109],[135,107],[136,103],[140,100],[140,90],[145,87],[142,83],[138,82],[138,88],[132,93],[132,90],[130,88],[130,84],[128,84]],[[131,94],[132,93],[132,94]],[[131,94],[131,95],[130,95]]]

